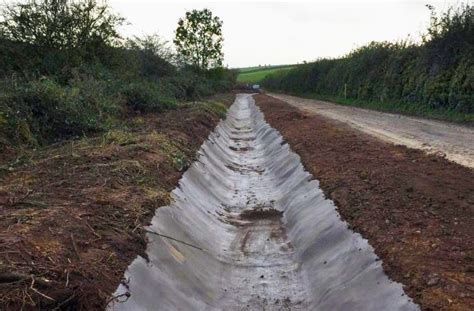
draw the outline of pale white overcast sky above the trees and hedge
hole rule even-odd
[[[429,21],[426,3],[443,10],[459,1],[109,0],[131,23],[122,29],[125,35],[156,32],[169,41],[187,10],[211,9],[224,22],[229,67],[292,64],[342,56],[373,40],[419,39]]]

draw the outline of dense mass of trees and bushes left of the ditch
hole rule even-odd
[[[223,68],[177,66],[156,35],[122,38],[124,19],[104,1],[20,2],[0,16],[0,150],[100,132],[233,84]]]

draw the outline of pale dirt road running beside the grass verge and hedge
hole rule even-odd
[[[446,155],[474,168],[474,128],[337,105],[283,94],[269,94],[305,112],[344,122],[384,141]]]

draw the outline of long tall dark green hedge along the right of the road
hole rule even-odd
[[[268,76],[270,90],[392,111],[474,121],[474,7],[437,15],[422,43],[372,42]]]

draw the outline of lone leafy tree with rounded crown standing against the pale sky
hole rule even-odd
[[[221,67],[222,21],[208,9],[186,12],[179,19],[174,44],[180,59],[201,70]]]

